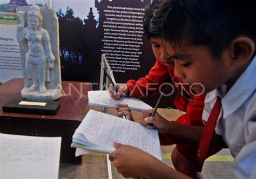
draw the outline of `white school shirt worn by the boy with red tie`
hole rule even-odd
[[[205,98],[203,122],[208,119],[216,98],[222,109],[215,132],[223,136],[234,157],[237,178],[256,178],[256,57],[227,94],[215,89]],[[225,94],[225,95],[223,95]]]

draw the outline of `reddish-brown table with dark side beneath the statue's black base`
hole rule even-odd
[[[56,115],[38,115],[3,112],[2,106],[12,99],[22,99],[23,79],[14,78],[0,85],[0,132],[30,136],[61,136],[60,162],[81,163],[71,148],[72,135],[88,111],[87,92],[91,84],[62,81],[60,109]]]

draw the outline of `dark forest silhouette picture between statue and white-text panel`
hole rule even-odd
[[[100,52],[100,38],[92,10],[84,20],[74,17],[69,6],[65,13],[59,9],[57,16],[63,80],[92,81],[92,72],[100,66],[101,56],[96,53],[96,49]],[[98,64],[95,64],[96,61]]]

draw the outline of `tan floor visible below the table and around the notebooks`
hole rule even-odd
[[[92,106],[91,109],[103,112],[102,107]],[[177,109],[164,109],[158,108],[157,112],[168,120],[176,120],[178,116],[184,114]],[[109,114],[117,116],[116,108],[109,108]],[[132,110],[133,119],[138,122],[141,112]],[[163,161],[167,165],[171,166],[171,152],[175,145],[172,146],[161,146],[161,152],[163,156]],[[114,179],[124,179],[121,174],[117,173],[117,169],[113,167],[111,163],[112,178]],[[59,178],[103,178],[108,179],[107,175],[107,158],[106,154],[87,154],[83,155],[82,164],[66,164],[60,163],[59,168]],[[130,178],[132,179],[132,178]]]

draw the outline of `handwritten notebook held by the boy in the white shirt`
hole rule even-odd
[[[115,150],[113,141],[117,141],[142,149],[161,160],[156,129],[147,129],[139,123],[93,110],[90,110],[80,123],[73,135],[73,141],[78,143],[89,141],[109,151]]]

